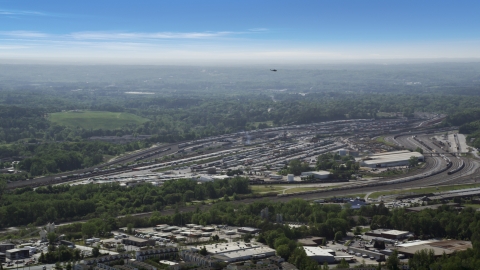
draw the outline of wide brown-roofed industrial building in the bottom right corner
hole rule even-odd
[[[460,240],[447,240],[447,241],[416,241],[408,242],[397,245],[397,251],[399,254],[404,254],[406,257],[411,258],[415,252],[427,249],[433,250],[435,257],[440,257],[444,253],[450,255],[454,252],[465,251],[472,248],[472,242],[460,241]]]

